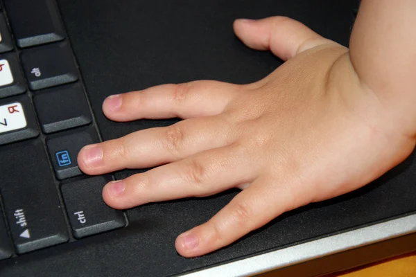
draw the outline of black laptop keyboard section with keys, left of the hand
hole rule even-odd
[[[112,176],[77,156],[100,141],[55,0],[0,2],[0,259],[118,229]]]

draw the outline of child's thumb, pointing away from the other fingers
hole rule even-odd
[[[284,61],[315,46],[335,43],[288,17],[237,19],[234,32],[250,48],[270,50]]]

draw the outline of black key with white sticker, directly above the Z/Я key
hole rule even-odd
[[[17,54],[0,55],[0,98],[26,91],[26,83],[20,71]]]

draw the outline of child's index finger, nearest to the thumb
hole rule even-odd
[[[225,109],[239,87],[216,81],[162,84],[110,96],[103,102],[103,112],[115,121],[214,116]]]

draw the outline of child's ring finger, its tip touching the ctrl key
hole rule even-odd
[[[241,145],[229,145],[111,182],[103,189],[103,198],[109,206],[124,209],[149,202],[204,197],[248,184],[256,178],[257,171]]]

